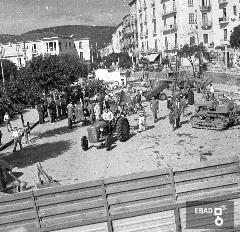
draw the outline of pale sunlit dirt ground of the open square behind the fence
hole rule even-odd
[[[199,99],[201,95],[196,97]],[[90,144],[90,149],[83,151],[81,137],[87,135],[87,127],[77,124],[70,130],[65,119],[38,125],[32,131],[32,144],[24,144],[24,149],[16,153],[12,153],[10,147],[2,151],[2,159],[10,163],[16,175],[32,189],[38,182],[38,162],[60,184],[72,184],[240,154],[239,126],[225,131],[193,129],[189,120],[194,106],[190,106],[188,116],[181,117],[181,127],[172,131],[166,101],[160,102],[156,124],[149,102],[143,105],[147,112],[147,130],[138,133],[138,116],[129,116],[131,138],[124,143],[115,141],[110,151],[98,149],[98,144]]]

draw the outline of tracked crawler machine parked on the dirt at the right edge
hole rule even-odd
[[[229,100],[225,103],[209,101],[196,105],[196,113],[192,115],[193,128],[224,130],[240,122],[240,105]]]

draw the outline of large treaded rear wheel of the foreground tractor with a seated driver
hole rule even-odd
[[[116,125],[117,138],[120,142],[129,139],[130,125],[127,118],[120,117]]]

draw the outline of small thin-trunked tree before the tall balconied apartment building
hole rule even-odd
[[[177,51],[177,56],[179,58],[188,59],[193,69],[193,75],[195,75],[194,58],[197,58],[199,60],[199,73],[201,74],[202,59],[205,53],[206,53],[206,48],[202,43],[199,45],[193,45],[193,46],[189,46],[188,44],[185,44],[181,49]]]

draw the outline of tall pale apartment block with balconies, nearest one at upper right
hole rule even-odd
[[[174,58],[184,44],[199,43],[211,53],[220,49],[224,54],[231,31],[240,23],[239,13],[239,0],[137,0],[141,55]]]

